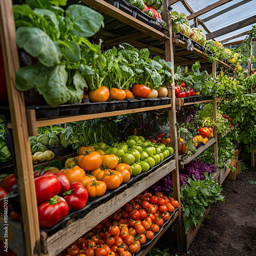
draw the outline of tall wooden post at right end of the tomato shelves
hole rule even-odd
[[[172,108],[169,108],[169,126],[170,126],[170,143],[175,150],[176,155],[176,170],[172,172],[173,177],[173,188],[174,197],[178,199],[180,204],[180,181],[179,181],[179,162],[178,162],[178,146],[177,146],[177,130],[175,127],[176,123],[176,101],[175,101],[175,89],[174,89],[174,52],[173,52],[173,34],[172,34],[172,19],[170,18],[170,13],[168,12],[168,2],[164,0],[163,2],[163,19],[166,23],[166,27],[169,29],[169,40],[165,41],[165,60],[173,63],[173,69],[169,70],[172,73],[173,83],[168,82],[168,97],[172,98]],[[179,220],[177,221],[177,240],[178,240],[178,250],[182,250],[182,215],[181,207],[179,207]]]

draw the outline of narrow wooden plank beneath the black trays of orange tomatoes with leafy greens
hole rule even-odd
[[[138,113],[138,112],[144,112],[144,111],[166,109],[166,108],[170,108],[171,106],[172,104],[166,104],[166,105],[158,105],[158,106],[149,106],[147,108],[140,108],[140,109],[133,109],[133,110],[120,110],[120,111],[113,111],[113,112],[103,112],[98,114],[58,117],[55,119],[37,120],[35,122],[35,125],[36,127],[41,127],[41,126],[47,126],[47,125],[54,125],[58,123],[76,122],[76,121],[89,120],[94,118],[118,116],[118,115],[125,115],[125,114]]]

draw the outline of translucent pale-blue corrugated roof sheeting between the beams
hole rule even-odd
[[[194,12],[198,12],[206,8],[207,6],[210,6],[212,4],[219,2],[219,0],[207,0],[207,1],[186,0],[186,2]],[[236,8],[233,8],[232,10],[229,10],[216,17],[211,17],[212,15],[219,13],[220,11],[225,10],[226,8],[231,8],[232,6],[235,6]],[[181,2],[178,2],[172,5],[171,7],[174,9],[174,11],[185,13],[186,16],[190,15],[190,13],[186,10],[186,8],[183,6]],[[256,0],[232,0],[222,6],[219,6],[215,9],[212,9],[200,15],[199,18],[202,20],[206,19],[204,21],[205,26],[209,29],[210,32],[214,32],[222,28],[231,26],[235,23],[241,22],[242,20],[249,18],[251,16],[254,16],[255,14],[256,14]],[[211,19],[207,20],[208,17],[210,17]],[[193,25],[194,19],[189,20],[189,24]],[[256,25],[256,23],[252,25]],[[225,34],[219,37],[215,37],[215,39],[221,41],[223,39],[232,37],[234,35],[246,32],[252,28],[252,25],[241,28],[239,30],[230,32],[228,34]],[[199,27],[202,28],[201,26]],[[205,33],[207,34],[206,31]],[[234,38],[228,42],[243,40],[245,36],[246,35],[243,35],[238,38]]]

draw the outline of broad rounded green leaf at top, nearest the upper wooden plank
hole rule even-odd
[[[71,35],[90,37],[103,24],[103,16],[89,7],[70,5],[65,12],[67,28]]]

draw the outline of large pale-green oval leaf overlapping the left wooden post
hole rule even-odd
[[[38,28],[19,27],[16,31],[16,43],[47,67],[60,63],[60,49],[58,45],[42,30]]]

